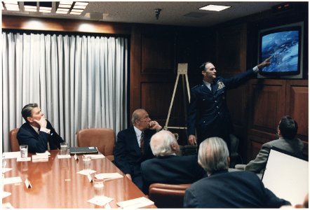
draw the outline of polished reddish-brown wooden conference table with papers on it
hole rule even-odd
[[[50,151],[48,162],[18,162],[16,158],[6,159],[6,168],[12,170],[5,173],[5,178],[20,176],[22,183],[4,185],[4,191],[11,195],[4,197],[2,203],[9,202],[14,208],[22,209],[119,208],[117,202],[146,197],[110,160],[101,158],[91,160],[95,174],[117,172],[123,175],[123,178],[105,181],[105,196],[114,199],[109,202],[109,206],[100,207],[87,202],[94,197],[94,190],[88,176],[77,174],[83,170],[82,155],[77,156],[79,160],[75,160],[73,155],[71,158],[59,159],[58,153],[59,151]],[[29,153],[28,156],[31,155],[34,154]],[[31,188],[26,187],[26,179],[31,183]]]

